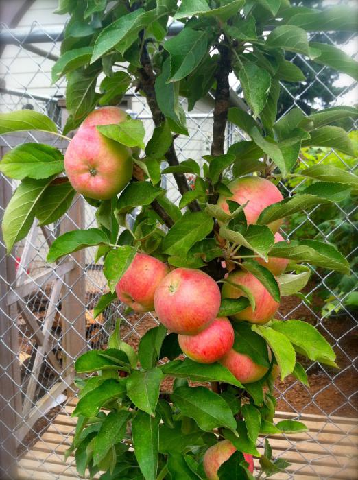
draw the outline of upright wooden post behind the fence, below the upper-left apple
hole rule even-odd
[[[84,200],[77,195],[62,220],[61,233],[84,228]],[[66,352],[62,367],[66,375],[73,369],[75,359],[86,351],[86,278],[83,274],[85,265],[84,250],[72,254],[75,268],[64,277],[67,291],[62,298],[62,348]]]

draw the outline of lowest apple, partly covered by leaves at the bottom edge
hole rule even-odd
[[[209,447],[203,459],[204,472],[208,480],[219,480],[217,470],[228,460],[233,453],[236,452],[235,446],[230,440],[222,440],[217,444]],[[248,470],[252,473],[254,471],[254,459],[249,453],[243,453],[243,458],[248,462]]]

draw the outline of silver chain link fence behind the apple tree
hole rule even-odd
[[[51,65],[60,54],[59,35],[54,36],[36,23],[32,25],[32,32],[37,34],[37,37],[33,36],[34,40],[41,35],[41,41],[46,40],[37,46],[29,43],[31,31],[27,32],[29,36],[16,38],[14,30],[6,25],[1,25],[1,28],[8,39],[8,45],[2,45],[0,58],[1,112],[33,108],[49,115],[61,128],[67,116],[64,81],[49,87]],[[325,36],[327,43],[333,43],[331,36]],[[348,45],[352,40],[345,38],[344,43]],[[317,69],[300,56],[291,58],[291,61],[294,60],[305,64],[313,80],[304,84],[298,93],[292,92],[287,84],[281,85],[289,99],[281,115],[294,106],[302,106],[301,101],[311,88],[320,86],[325,96],[331,95],[331,106],[342,104],[342,99],[352,92],[353,86],[347,84],[341,88],[339,96],[335,95],[333,88],[322,80],[326,67]],[[239,85],[232,81],[231,86],[235,102],[240,97]],[[315,99],[315,104],[320,105],[319,97]],[[133,91],[123,99],[121,107],[143,120],[149,139],[153,124],[145,99]],[[212,116],[213,98],[209,95],[187,115],[190,137],[176,141],[180,160],[200,160],[209,152]],[[355,129],[353,123],[350,129]],[[244,134],[235,125],[228,125],[227,146],[241,138],[244,138]],[[0,137],[1,156],[16,145],[36,141],[50,143],[60,149],[66,146],[63,141],[49,139],[49,136],[36,132],[5,135]],[[349,171],[357,167],[357,158],[353,160],[338,152],[322,150],[302,152],[300,165],[309,165],[312,160],[342,165]],[[3,176],[0,179],[2,217],[16,182]],[[189,178],[189,182],[192,181],[193,178]],[[284,196],[290,196],[307,181],[285,180],[280,188]],[[180,195],[171,175],[165,176],[163,187],[168,189],[171,200],[178,202]],[[340,248],[343,246],[344,254],[353,267],[352,275],[342,278],[323,269],[313,269],[302,296],[283,299],[280,315],[283,319],[302,318],[318,326],[335,349],[340,369],[327,368],[318,363],[304,364],[310,390],[291,376],[285,381],[276,381],[278,410],[291,412],[294,418],[306,416],[312,423],[320,416],[323,439],[320,442],[317,435],[307,433],[301,439],[299,435],[296,440],[286,439],[284,446],[277,444],[275,455],[285,458],[289,451],[291,455],[294,453],[296,459],[289,473],[277,478],[299,479],[300,475],[307,479],[346,478],[344,472],[350,471],[352,461],[350,452],[354,445],[351,444],[350,433],[354,421],[346,419],[348,427],[344,429],[339,427],[336,417],[354,419],[358,409],[355,364],[357,319],[353,309],[354,296],[357,295],[357,271],[354,268],[358,257],[357,202],[324,207],[323,214],[320,214],[320,209],[322,206],[294,216],[283,225],[282,234],[286,239],[297,239],[302,235],[338,244]],[[5,245],[0,245],[3,387],[0,394],[0,431],[5,451],[8,451],[12,463],[18,464],[19,478],[80,478],[73,465],[67,468],[62,466],[63,453],[74,429],[70,411],[65,407],[74,392],[73,360],[86,348],[105,348],[117,318],[121,318],[122,338],[134,347],[145,331],[157,324],[152,313],[125,315],[125,309],[119,303],[112,304],[99,317],[93,318],[93,308],[106,291],[102,263],[95,263],[94,248],[86,250],[85,254],[77,252],[57,265],[47,264],[45,258],[49,245],[60,232],[91,226],[96,226],[95,211],[77,197],[67,215],[46,228],[35,225],[10,256],[5,256]],[[56,416],[60,420],[55,422]],[[325,431],[331,432],[330,441],[324,440]],[[14,448],[10,448],[14,436],[17,439],[15,454]],[[304,453],[300,448],[302,442],[308,445]],[[331,465],[339,448],[348,451],[344,461],[335,460],[332,472],[323,476],[315,469],[315,465]],[[315,451],[318,451],[318,455],[314,456]],[[53,466],[60,466],[60,470]]]

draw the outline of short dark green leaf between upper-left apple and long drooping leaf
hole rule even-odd
[[[70,182],[62,182],[64,178],[54,180],[45,189],[40,200],[36,204],[36,218],[38,226],[52,224],[67,212],[72,204],[75,190]],[[55,183],[56,182],[56,183]]]

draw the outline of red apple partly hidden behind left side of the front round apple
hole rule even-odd
[[[144,253],[137,253],[116,285],[117,297],[137,312],[154,310],[154,292],[169,273],[169,267]]]

